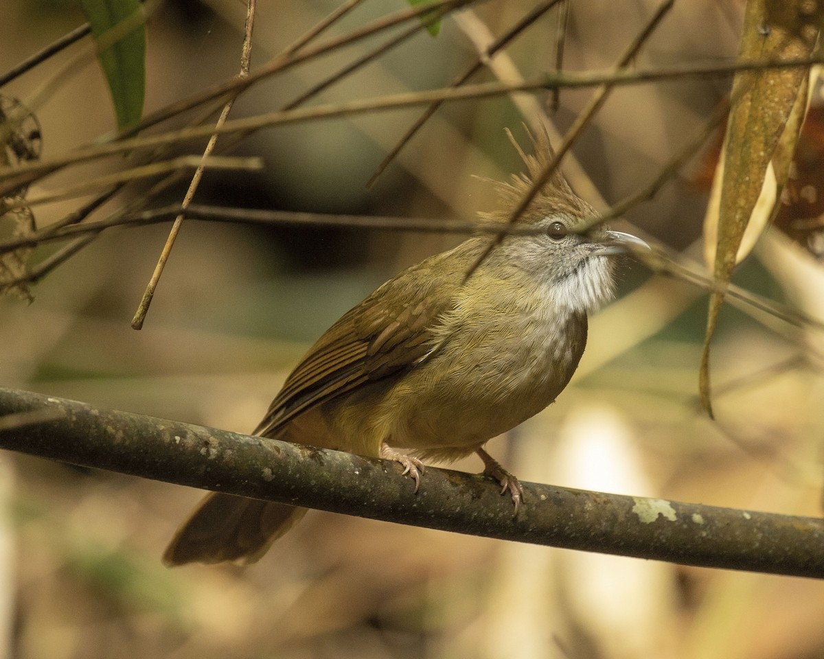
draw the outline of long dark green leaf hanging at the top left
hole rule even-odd
[[[81,0],[97,42],[119,129],[137,124],[146,92],[146,30],[140,0]]]

